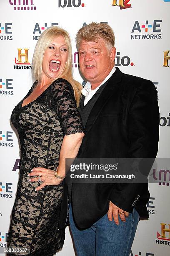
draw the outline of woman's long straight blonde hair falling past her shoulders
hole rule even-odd
[[[62,35],[65,39],[65,43],[67,45],[67,51],[68,51],[68,58],[65,64],[65,67],[62,72],[62,78],[66,79],[70,84],[72,85],[72,88],[74,90],[75,100],[77,102],[77,106],[80,103],[80,97],[81,97],[81,89],[82,85],[73,79],[72,77],[72,46],[71,46],[71,39],[67,31],[64,29],[58,27],[58,26],[52,26],[50,28],[47,28],[40,36],[40,38],[37,41],[37,44],[35,46],[34,55],[32,59],[32,71],[33,76],[35,80],[38,82],[41,82],[42,80],[42,61],[44,58],[44,53],[47,47],[50,45],[53,38]],[[61,77],[61,76],[60,76]],[[53,81],[55,81],[56,77]],[[52,82],[53,82],[52,81]]]

